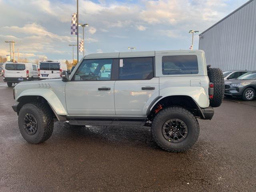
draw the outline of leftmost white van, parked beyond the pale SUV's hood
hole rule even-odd
[[[4,63],[4,82],[9,87],[20,81],[33,81],[38,79],[38,68],[33,63]]]

